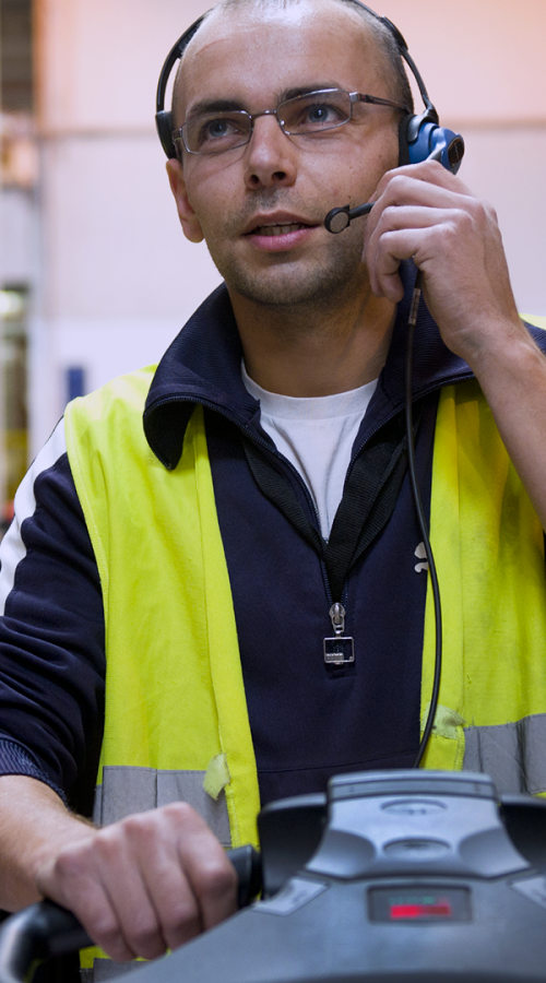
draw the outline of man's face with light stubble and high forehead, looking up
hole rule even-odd
[[[182,119],[204,102],[260,112],[302,88],[393,98],[385,75],[369,28],[331,0],[213,14],[182,62]],[[232,294],[260,304],[324,303],[358,291],[367,283],[365,220],[339,236],[323,221],[336,205],[367,201],[396,166],[396,132],[395,110],[357,105],[354,120],[319,137],[288,137],[265,116],[246,146],[185,151],[183,168],[169,170],[186,235],[204,236]]]

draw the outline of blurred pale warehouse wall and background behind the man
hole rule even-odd
[[[0,0],[0,504],[67,401],[157,360],[218,283],[154,130],[163,61],[207,0]],[[461,177],[497,209],[521,311],[546,315],[545,0],[382,0]],[[335,202],[333,202],[335,204]]]

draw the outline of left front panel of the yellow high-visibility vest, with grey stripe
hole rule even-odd
[[[105,613],[95,817],[186,800],[226,845],[256,842],[256,760],[202,408],[167,471],[142,428],[153,371],[116,379],[66,414]]]

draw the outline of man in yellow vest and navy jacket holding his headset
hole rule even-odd
[[[134,374],[69,408],[7,537],[0,904],[47,895],[117,960],[154,958],[234,910],[218,840],[177,797],[221,836],[227,804],[245,841],[258,781],[269,801],[415,758],[430,611],[403,442],[412,258],[440,332],[422,310],[417,465],[449,580],[427,765],[461,767],[465,739],[484,763],[485,731],[511,739],[544,721],[546,365],[491,210],[439,164],[397,168],[406,97],[388,47],[343,0],[230,0],[205,20],[177,80],[189,147],[168,173],[183,232],[205,238],[227,294],[153,380]],[[332,88],[396,105],[283,131],[278,103]],[[254,114],[250,139],[203,153],[232,133],[225,110]],[[324,229],[332,206],[370,199],[367,220]],[[104,630],[96,815],[118,821],[97,831],[62,796],[78,807],[95,778]],[[354,661],[325,662],[337,636],[354,638]],[[152,805],[168,804],[142,812],[151,787]]]

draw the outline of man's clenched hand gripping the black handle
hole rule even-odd
[[[63,849],[39,875],[112,959],[154,959],[236,910],[224,850],[186,803],[131,816]]]

